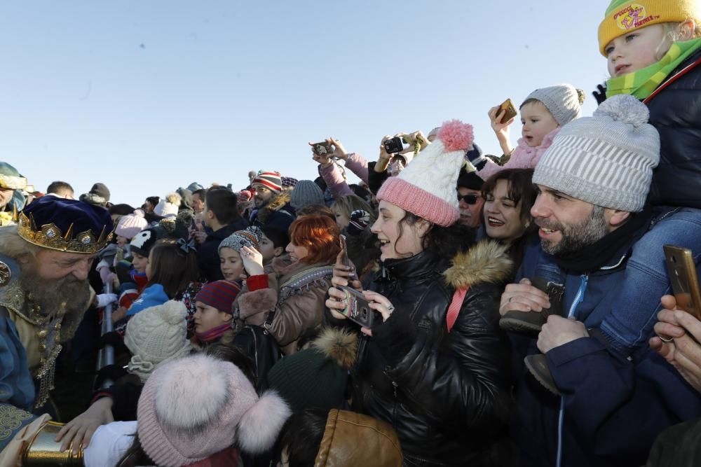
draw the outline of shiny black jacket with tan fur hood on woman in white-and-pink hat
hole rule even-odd
[[[493,242],[456,256],[449,270],[430,251],[386,262],[392,279],[376,291],[395,311],[373,326],[374,337],[361,337],[353,410],[394,426],[405,465],[489,465],[508,424],[510,349],[498,327],[496,284],[511,264]],[[467,284],[448,333],[454,289]]]

